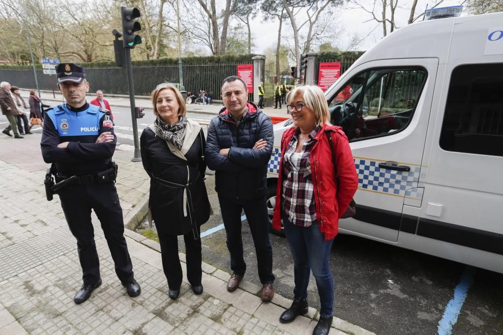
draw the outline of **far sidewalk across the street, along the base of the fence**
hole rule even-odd
[[[30,96],[29,90],[25,88],[20,89],[21,95],[26,98],[26,103],[28,103],[28,98]],[[41,91],[40,92],[40,98],[42,99],[42,102],[50,104],[50,105],[57,105],[60,103],[63,103],[63,96],[61,93],[55,91],[55,97],[52,95],[52,91]],[[86,96],[88,102],[95,99],[96,96],[95,94],[90,94]],[[106,100],[110,103],[110,107],[112,109],[112,113],[114,111],[114,107],[125,107],[128,108],[130,106],[129,104],[129,97],[118,97],[118,96],[104,96]],[[142,108],[147,108],[147,109],[152,109],[152,102],[149,97],[135,97],[134,99],[134,104],[136,107],[142,107]],[[203,114],[212,114],[212,115],[217,115],[220,109],[223,107],[223,104],[221,103],[212,103],[212,104],[187,104],[187,111],[190,111],[192,113],[203,113]],[[270,117],[281,117],[281,118],[290,118],[290,115],[287,113],[286,106],[284,106],[281,109],[275,109],[274,107],[265,107],[262,108],[265,114],[267,114]]]

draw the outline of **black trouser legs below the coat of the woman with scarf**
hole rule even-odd
[[[158,231],[157,231],[158,232]],[[167,285],[172,290],[182,286],[182,265],[178,256],[178,236],[159,233],[160,256],[162,270],[167,279]],[[192,232],[184,235],[187,261],[187,279],[192,286],[201,285],[203,270],[201,269],[201,238],[194,240]]]

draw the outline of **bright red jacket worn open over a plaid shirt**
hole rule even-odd
[[[283,133],[281,157],[284,157],[286,147],[296,129],[296,127],[292,127]],[[337,179],[325,130],[331,132],[333,150],[336,155]],[[358,188],[358,175],[348,138],[341,127],[324,125],[316,134],[314,140],[317,143],[314,144],[309,155],[311,177],[314,185],[314,204],[319,230],[323,233],[325,241],[328,241],[333,239],[339,231],[339,218],[345,212]],[[276,206],[273,217],[273,228],[275,230],[281,229],[282,168],[283,159],[280,162],[278,188],[276,190]]]

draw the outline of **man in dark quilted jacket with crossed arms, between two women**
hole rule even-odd
[[[254,103],[247,101],[244,82],[230,76],[222,83],[225,105],[211,120],[206,142],[206,162],[215,170],[215,189],[227,234],[230,267],[234,272],[227,291],[239,286],[246,271],[241,239],[241,211],[246,219],[257,252],[260,297],[274,296],[273,251],[269,241],[267,216],[267,163],[274,143],[271,119]]]

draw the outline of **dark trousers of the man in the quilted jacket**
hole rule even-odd
[[[232,271],[239,275],[243,275],[246,271],[241,238],[241,210],[244,210],[257,253],[259,279],[262,284],[274,282],[273,249],[269,240],[266,198],[235,200],[218,195],[218,201],[227,235],[227,249],[230,253]]]

